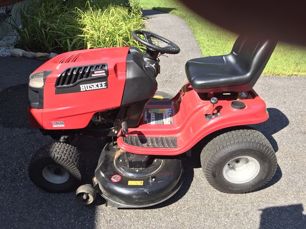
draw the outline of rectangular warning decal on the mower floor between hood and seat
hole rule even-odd
[[[169,125],[173,124],[172,109],[150,108],[144,111],[144,123],[151,125]]]

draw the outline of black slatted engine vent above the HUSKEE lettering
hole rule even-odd
[[[73,67],[66,69],[63,73],[59,75],[56,80],[55,87],[72,87],[73,85],[81,81],[105,77],[108,77],[107,64]]]

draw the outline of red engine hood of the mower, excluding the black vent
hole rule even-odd
[[[31,109],[31,113],[42,112],[41,118],[35,117],[37,123],[41,124],[39,128],[84,128],[95,112],[119,107],[126,79],[127,52],[129,47],[72,51],[60,54],[40,66],[35,72],[53,72],[46,78],[43,109]],[[55,94],[56,79],[67,68],[104,63],[107,64],[109,74],[107,89]],[[65,127],[53,127],[52,122],[59,121],[64,121]]]

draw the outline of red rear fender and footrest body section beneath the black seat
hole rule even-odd
[[[190,150],[208,134],[232,126],[256,124],[264,122],[269,115],[265,102],[253,91],[244,99],[246,108],[238,110],[231,107],[233,100],[219,100],[217,106],[222,106],[221,116],[206,121],[205,115],[211,113],[212,105],[209,100],[202,100],[192,90],[189,84],[187,90],[183,87],[179,94],[172,99],[172,105],[148,105],[147,108],[172,108],[173,124],[171,125],[140,125],[130,128],[129,133],[146,137],[175,136],[177,148],[143,148],[127,145],[122,137],[117,139],[118,146],[127,152],[147,155],[177,155]]]

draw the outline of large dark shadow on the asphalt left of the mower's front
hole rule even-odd
[[[31,128],[27,118],[27,82],[42,63],[0,58],[0,228],[94,228],[94,206],[80,205],[74,193],[45,192],[28,176],[31,155],[52,141]],[[81,143],[92,156],[88,163],[94,166],[94,155],[99,153],[101,143],[91,147],[89,141],[84,139]]]

